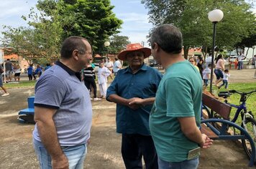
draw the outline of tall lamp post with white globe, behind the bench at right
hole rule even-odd
[[[210,92],[212,94],[212,79],[214,73],[214,47],[215,47],[215,37],[216,37],[216,24],[221,21],[223,18],[223,12],[219,9],[214,9],[210,11],[208,14],[208,19],[214,24],[214,34],[213,34],[213,42],[212,42],[212,57],[211,57],[211,81],[210,81]]]

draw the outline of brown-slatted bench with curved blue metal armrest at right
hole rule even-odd
[[[203,109],[208,114],[208,119],[204,118],[204,115],[202,116],[201,132],[213,140],[249,140],[252,148],[252,158],[250,159],[249,166],[254,166],[255,144],[244,128],[229,120],[231,106],[205,93],[203,93],[202,102]],[[213,115],[213,113],[215,114]],[[229,127],[239,132],[232,134],[229,132]]]

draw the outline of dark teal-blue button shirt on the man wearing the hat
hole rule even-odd
[[[142,99],[155,97],[158,84],[163,75],[145,64],[135,74],[132,69],[120,69],[106,92],[109,95],[119,95],[125,99],[140,97]],[[116,132],[127,134],[150,135],[149,116],[152,105],[146,105],[137,110],[116,104]]]

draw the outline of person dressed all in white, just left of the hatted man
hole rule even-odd
[[[107,77],[111,74],[108,68],[104,67],[104,62],[101,62],[99,64],[99,70],[98,70],[98,83],[99,83],[99,90],[101,92],[101,98],[106,98],[106,82]]]

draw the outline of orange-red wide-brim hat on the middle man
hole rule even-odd
[[[117,57],[120,60],[125,60],[125,56],[129,52],[139,52],[139,51],[143,52],[145,54],[144,59],[147,58],[147,57],[150,57],[150,55],[151,55],[151,49],[150,48],[142,47],[142,45],[140,43],[137,43],[137,44],[127,44],[127,49],[120,52]]]

